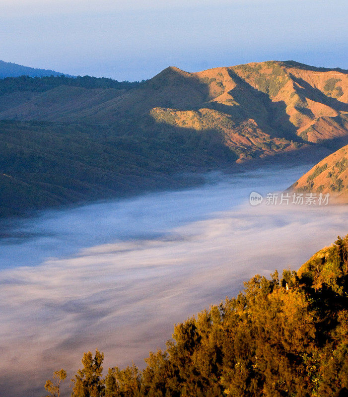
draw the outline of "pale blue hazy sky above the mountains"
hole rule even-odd
[[[146,79],[266,60],[347,65],[347,0],[1,0],[0,59]]]

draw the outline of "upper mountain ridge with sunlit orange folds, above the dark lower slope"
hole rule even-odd
[[[0,119],[113,124],[165,137],[198,133],[241,162],[308,142],[347,143],[347,102],[347,70],[270,61],[197,73],[168,67],[125,91],[63,85],[9,93],[0,99]]]

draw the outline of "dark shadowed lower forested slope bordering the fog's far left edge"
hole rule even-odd
[[[120,135],[112,126],[0,121],[0,216],[202,182],[198,170],[233,161],[205,134]],[[180,175],[185,173],[185,175]]]

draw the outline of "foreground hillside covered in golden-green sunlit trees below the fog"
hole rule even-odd
[[[85,353],[71,396],[347,396],[347,287],[348,236],[297,272],[256,275],[236,298],[177,324],[143,371],[113,367],[104,378],[103,354]],[[46,383],[50,396],[65,378],[57,371]]]

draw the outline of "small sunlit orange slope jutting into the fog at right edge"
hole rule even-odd
[[[320,161],[291,188],[297,192],[330,193],[348,203],[348,145]]]

